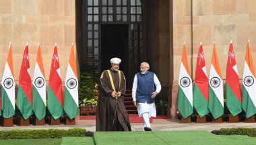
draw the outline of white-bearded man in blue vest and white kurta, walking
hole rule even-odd
[[[143,117],[143,130],[151,131],[150,117],[156,117],[155,97],[161,91],[160,81],[156,74],[148,71],[150,65],[142,62],[140,72],[133,80],[133,105],[137,107],[139,117]]]

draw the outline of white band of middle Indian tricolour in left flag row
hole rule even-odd
[[[42,79],[44,80],[44,85],[42,87],[40,87],[40,88],[36,87],[36,85],[34,84],[34,81],[38,77],[42,77]],[[36,66],[34,68],[33,85],[36,88],[36,90],[38,91],[40,97],[42,98],[42,101],[44,101],[44,105],[46,105],[46,81],[44,79],[44,76],[42,75],[42,72],[41,72],[37,62],[36,62]]]

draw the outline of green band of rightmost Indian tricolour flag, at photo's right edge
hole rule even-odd
[[[247,89],[243,86],[243,99],[242,99],[242,108],[245,110],[246,117],[249,118],[256,113],[256,107],[247,92]]]

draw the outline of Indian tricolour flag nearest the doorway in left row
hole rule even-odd
[[[64,110],[70,119],[73,119],[75,115],[78,115],[78,81],[73,45],[70,52],[69,64],[67,65]]]

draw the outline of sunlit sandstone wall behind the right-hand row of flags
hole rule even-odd
[[[250,40],[253,58],[256,56],[256,3],[253,0],[173,0],[173,80],[171,115],[177,108],[177,88],[183,42],[186,42],[191,74],[195,77],[195,65],[199,44],[203,42],[207,75],[210,73],[213,43],[216,42],[222,77],[226,79],[226,63],[230,40],[238,65],[239,78],[243,78],[247,40]],[[171,13],[170,12],[170,13]],[[171,57],[171,56],[170,56]],[[254,60],[255,61],[255,60]],[[254,63],[255,65],[256,63]],[[225,82],[225,81],[224,81]]]

